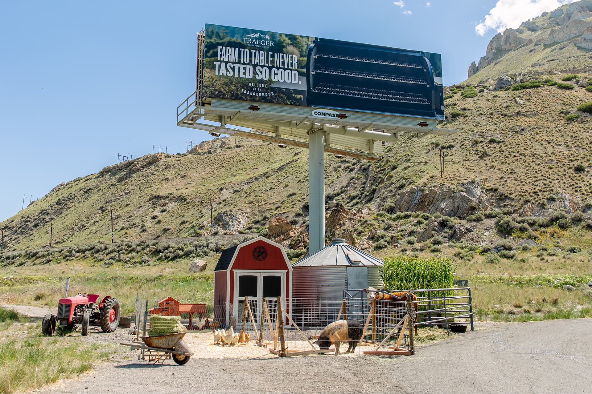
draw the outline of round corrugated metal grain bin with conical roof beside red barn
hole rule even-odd
[[[382,287],[382,260],[333,239],[323,249],[292,265],[292,297],[297,323],[333,321],[343,290]]]

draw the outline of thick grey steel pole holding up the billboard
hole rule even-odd
[[[308,255],[325,246],[324,131],[308,135]]]

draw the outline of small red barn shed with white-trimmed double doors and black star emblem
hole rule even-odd
[[[262,298],[282,297],[289,313],[292,297],[292,266],[284,246],[256,237],[224,249],[214,269],[214,320],[229,324],[242,320],[244,297],[249,297],[253,317],[259,318]]]

